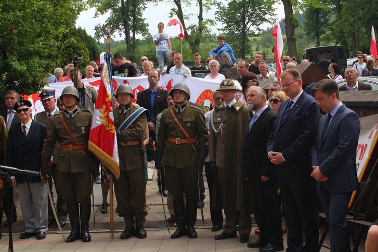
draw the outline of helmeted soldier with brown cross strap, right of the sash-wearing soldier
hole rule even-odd
[[[155,165],[160,172],[163,171],[164,152],[165,183],[168,192],[173,195],[173,208],[178,225],[171,238],[179,238],[185,234],[189,238],[197,238],[194,225],[197,220],[198,171],[203,169],[209,137],[202,110],[187,104],[190,99],[188,87],[177,83],[170,95],[175,106],[162,112]],[[186,198],[186,211],[183,194]]]

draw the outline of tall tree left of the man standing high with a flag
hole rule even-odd
[[[143,11],[155,0],[94,0],[93,2],[96,6],[95,17],[109,15],[105,24],[95,26],[95,38],[100,40],[105,36],[102,25],[110,27],[114,25],[115,31],[124,34],[127,54],[123,56],[135,60],[135,51],[139,45],[136,35],[141,34],[144,37],[149,35],[146,19],[142,18]]]

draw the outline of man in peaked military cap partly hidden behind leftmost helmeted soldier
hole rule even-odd
[[[34,116],[34,120],[42,122],[46,126],[48,126],[48,123],[50,122],[50,117],[54,114],[60,113],[55,108],[55,90],[54,89],[42,89],[42,92],[40,93],[39,97],[41,97],[41,102],[43,105],[43,108],[45,111],[39,112]],[[57,200],[56,200],[56,210],[57,210],[57,216],[59,220],[60,226],[64,227],[66,226],[66,219],[67,219],[67,202],[66,199],[64,199],[61,194],[59,193],[58,187],[56,185],[56,160],[57,160],[57,148],[54,148],[54,151],[52,152],[52,162],[51,162],[51,175],[55,182],[55,190],[57,194]],[[53,196],[52,193],[52,179],[48,180],[48,186],[51,192],[51,196]],[[52,225],[55,223],[56,220],[54,218],[54,214],[52,212],[52,207],[50,205],[50,202],[48,202],[48,225]]]

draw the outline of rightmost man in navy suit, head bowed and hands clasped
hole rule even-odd
[[[339,98],[334,80],[321,80],[311,94],[328,115],[319,123],[312,147],[311,176],[318,180],[319,197],[331,231],[331,250],[350,251],[346,212],[352,192],[357,190],[356,149],[360,121]]]

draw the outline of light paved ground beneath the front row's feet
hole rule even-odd
[[[259,251],[258,248],[248,248],[247,243],[239,242],[239,235],[236,238],[229,238],[225,240],[215,240],[214,236],[222,232],[211,231],[210,209],[209,209],[209,194],[208,187],[205,180],[206,199],[204,208],[204,223],[202,223],[201,213],[198,211],[196,231],[198,238],[189,239],[187,236],[183,236],[178,239],[170,239],[170,234],[167,230],[164,213],[162,208],[161,196],[158,193],[158,186],[156,183],[156,170],[153,168],[153,164],[149,163],[149,180],[147,181],[147,209],[148,215],[146,217],[145,229],[147,231],[146,239],[138,239],[136,236],[129,239],[121,240],[119,238],[125,225],[123,218],[118,217],[115,214],[116,201],[114,198],[114,236],[110,234],[110,208],[108,208],[107,214],[101,214],[101,185],[94,183],[94,205],[95,205],[95,219],[96,228],[94,228],[93,213],[90,221],[90,234],[92,236],[91,242],[82,242],[77,240],[75,242],[67,243],[63,240],[62,235],[58,231],[55,225],[49,227],[46,238],[43,240],[37,240],[35,237],[28,239],[20,239],[19,236],[25,230],[25,226],[22,220],[22,213],[19,205],[19,201],[16,200],[16,207],[18,213],[18,219],[13,224],[13,248],[14,251]],[[56,197],[56,196],[54,196]],[[109,197],[108,197],[109,198]],[[16,197],[17,199],[17,197]],[[55,199],[56,200],[56,199]],[[109,202],[109,199],[108,199]],[[166,206],[166,198],[164,198],[164,207],[169,217],[168,209]],[[64,234],[67,237],[70,233],[70,224],[67,219],[67,226],[63,228]],[[257,227],[254,217],[252,215],[252,232],[249,236],[249,241],[255,241],[259,237],[254,233]],[[174,232],[174,223],[169,223],[170,232]],[[0,251],[9,249],[9,235],[8,228],[2,227],[2,239],[0,240]],[[322,232],[323,229],[321,229]],[[321,234],[320,234],[321,235]],[[284,234],[284,247],[287,247],[287,234]],[[326,239],[325,244],[329,245],[329,236]],[[359,251],[365,251],[364,242],[361,241],[358,247]],[[329,251],[327,248],[322,248],[320,251]]]

